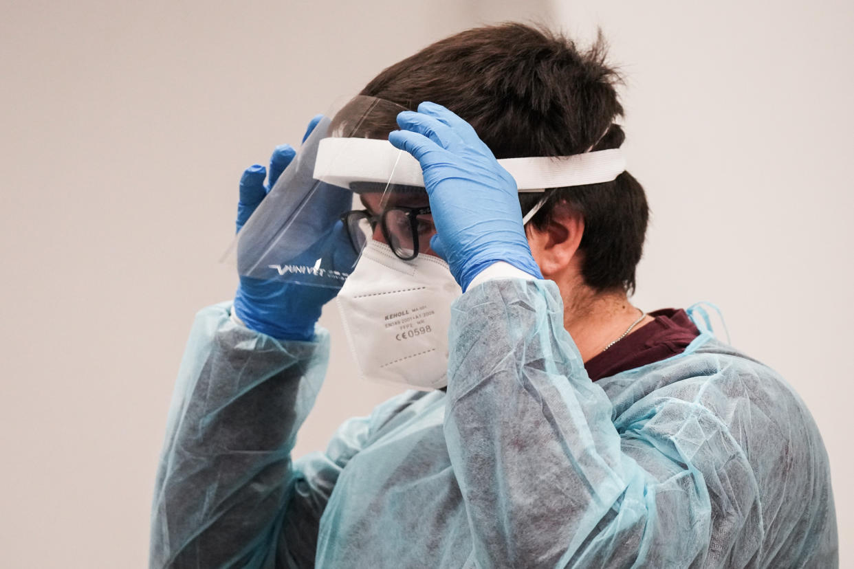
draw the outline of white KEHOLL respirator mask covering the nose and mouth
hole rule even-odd
[[[447,386],[451,304],[462,293],[441,258],[403,261],[370,241],[337,296],[360,375],[427,391]]]

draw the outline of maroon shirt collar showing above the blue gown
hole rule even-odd
[[[681,354],[699,336],[699,330],[681,309],[665,308],[649,315],[655,320],[584,363],[591,380]]]

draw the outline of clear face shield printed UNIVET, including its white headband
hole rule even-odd
[[[237,253],[241,276],[337,290],[371,239],[401,260],[430,253],[421,167],[387,140],[403,110],[356,96],[320,120],[238,234],[229,256]],[[519,192],[607,182],[625,170],[620,149],[498,161]]]

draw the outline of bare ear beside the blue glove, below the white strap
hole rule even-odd
[[[552,221],[546,228],[539,230],[529,225],[525,234],[542,275],[550,278],[577,263],[576,253],[584,234],[584,218],[569,204],[559,204],[555,206]]]

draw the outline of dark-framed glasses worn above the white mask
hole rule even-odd
[[[385,241],[397,258],[411,261],[418,257],[418,251],[430,247],[430,237],[436,233],[433,219],[427,216],[430,216],[430,206],[395,206],[377,215],[367,210],[352,210],[342,214],[341,220],[356,253],[361,253],[379,223]]]

